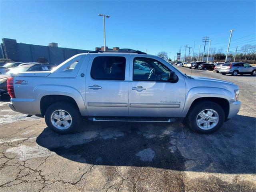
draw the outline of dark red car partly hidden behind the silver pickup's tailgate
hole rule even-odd
[[[56,66],[37,63],[37,64],[26,64],[26,65],[12,68],[12,70],[8,71],[6,74],[0,75],[0,94],[7,93],[6,81],[7,81],[7,78],[10,77],[10,74],[16,74],[16,73],[26,72],[26,71],[49,71],[49,70],[52,70],[54,67]]]

